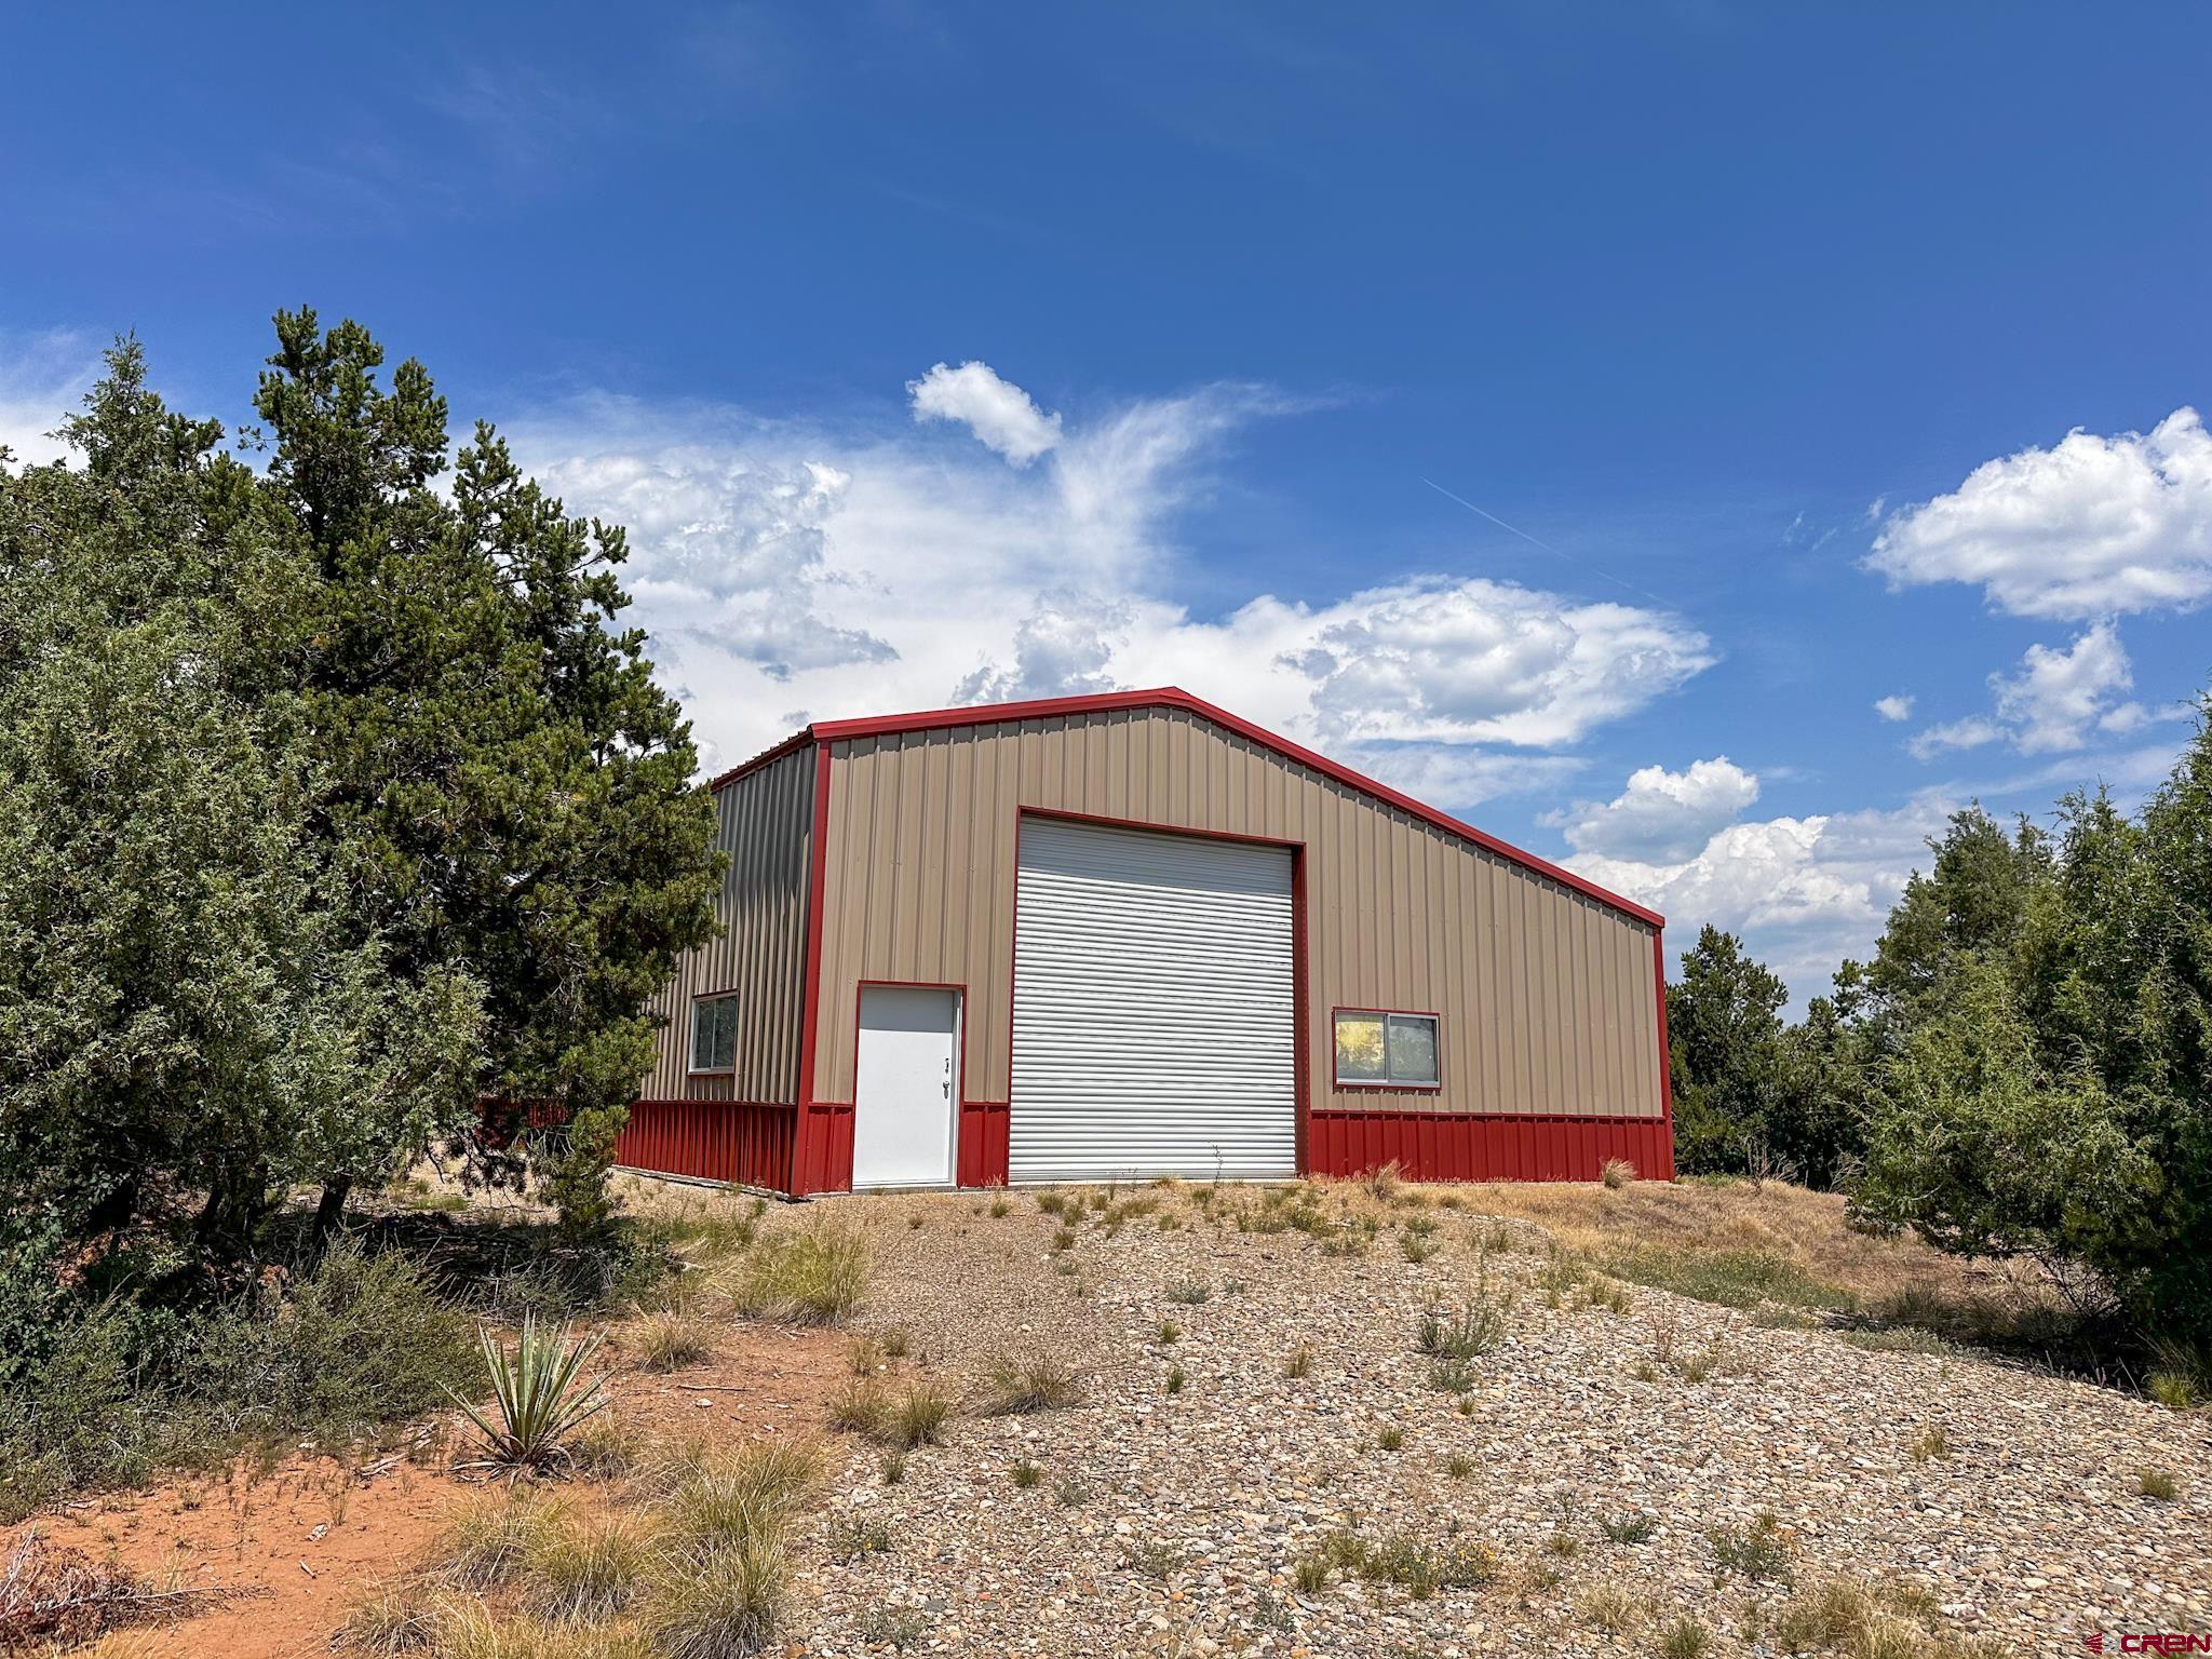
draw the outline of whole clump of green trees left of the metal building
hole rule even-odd
[[[434,491],[420,365],[276,332],[265,473],[128,341],[82,465],[0,471],[0,1214],[223,1276],[451,1139],[595,1232],[719,878],[622,533],[484,427]],[[531,1110],[478,1137],[482,1093]]]

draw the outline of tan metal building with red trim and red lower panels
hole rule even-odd
[[[630,1168],[1674,1172],[1661,916],[1190,692],[821,721],[714,796]]]

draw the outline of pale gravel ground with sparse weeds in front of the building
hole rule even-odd
[[[896,1484],[841,1442],[803,1648],[1690,1659],[1683,1617],[1776,1652],[1838,1579],[1880,1613],[1820,1646],[1869,1655],[2212,1628],[2212,1416],[1621,1285],[1438,1197],[1152,1188],[1073,1239],[1035,1194],[816,1206],[874,1234],[891,1371],[1042,1352],[1084,1380],[956,1418]],[[1495,1347],[1436,1387],[1422,1316],[1469,1303]],[[1327,1566],[1343,1533],[1482,1582]]]

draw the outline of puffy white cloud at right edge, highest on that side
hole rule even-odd
[[[2068,431],[1893,513],[1867,564],[1893,588],[1966,582],[2024,617],[2188,611],[2212,597],[2212,434],[2174,409],[2148,434]]]

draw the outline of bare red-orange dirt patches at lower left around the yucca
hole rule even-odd
[[[737,1327],[710,1358],[672,1376],[617,1371],[608,1396],[646,1444],[816,1433],[843,1369],[843,1336]],[[445,1467],[449,1453],[436,1442],[414,1455],[420,1462],[367,1458],[352,1469],[303,1453],[259,1475],[237,1469],[228,1480],[111,1493],[27,1526],[93,1557],[113,1548],[161,1586],[239,1593],[190,1619],[133,1632],[133,1659],[301,1659],[330,1652],[330,1635],[354,1601],[414,1564],[447,1513],[478,1491]],[[0,1555],[18,1535],[0,1537]]]

